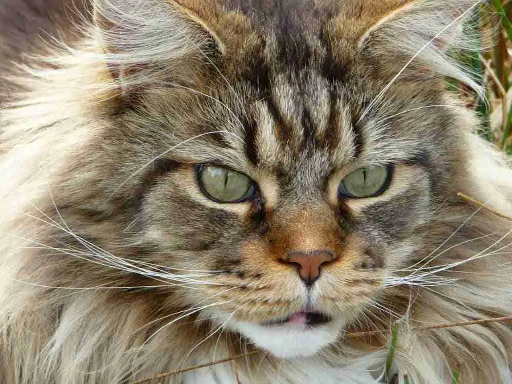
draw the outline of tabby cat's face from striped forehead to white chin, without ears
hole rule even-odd
[[[208,26],[194,78],[167,69],[116,115],[122,135],[99,141],[122,147],[111,192],[136,202],[142,260],[198,271],[173,303],[275,355],[307,356],[425,255],[463,161],[447,150],[455,117],[423,109],[447,101],[418,65],[372,103],[395,67],[337,35],[339,20],[301,34],[292,13],[286,35],[234,15]]]

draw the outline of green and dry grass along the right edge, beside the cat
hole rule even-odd
[[[512,156],[512,0],[488,0],[474,10],[471,30],[480,32],[479,47],[475,52],[462,52],[458,60],[473,69],[475,79],[485,88],[485,98],[473,90],[449,79],[449,87],[467,101],[481,119],[480,135]],[[476,28],[474,28],[476,27]],[[500,319],[497,319],[500,320]],[[512,317],[500,321],[512,322]],[[392,364],[400,324],[393,329],[389,342],[385,384],[395,384]],[[448,325],[449,326],[449,325]],[[464,373],[453,371],[452,384],[463,384]],[[406,376],[406,384],[409,380]],[[411,383],[413,384],[413,383]],[[483,384],[483,383],[482,383]],[[486,383],[487,384],[487,383]],[[490,384],[490,383],[488,383]]]

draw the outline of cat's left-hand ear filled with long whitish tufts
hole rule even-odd
[[[208,22],[176,1],[93,0],[93,5],[99,60],[123,94],[162,81],[190,84],[224,52]]]

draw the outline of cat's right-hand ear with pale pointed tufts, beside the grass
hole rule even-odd
[[[388,8],[360,36],[359,50],[365,57],[384,63],[391,74],[405,67],[416,73],[455,78],[479,91],[480,86],[460,63],[457,51],[482,49],[474,16],[484,1],[383,0]],[[419,69],[419,70],[418,70]]]

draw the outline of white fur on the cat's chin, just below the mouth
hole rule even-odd
[[[253,344],[274,356],[292,358],[314,355],[323,347],[334,343],[343,326],[344,322],[340,320],[314,327],[296,324],[266,327],[233,321],[229,328],[241,333]]]

